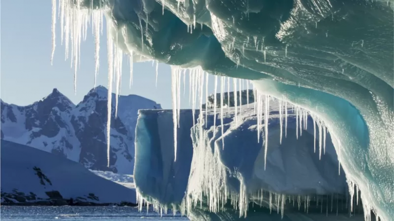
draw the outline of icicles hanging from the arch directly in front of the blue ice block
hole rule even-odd
[[[207,125],[207,115],[208,115],[208,105],[205,105],[205,110],[203,110],[203,102],[204,99],[208,100],[208,73],[204,72],[204,70],[201,67],[195,67],[195,68],[181,68],[178,66],[171,66],[171,91],[172,91],[172,110],[173,110],[173,130],[174,130],[174,160],[176,161],[176,152],[177,152],[177,128],[179,128],[179,121],[180,121],[180,96],[181,93],[183,95],[185,94],[185,85],[186,85],[186,74],[189,74],[189,103],[191,101],[191,106],[192,106],[192,115],[193,115],[193,126],[195,126],[195,110],[196,108],[199,108],[200,110],[200,115],[199,118],[204,118],[204,113],[205,113],[205,126]],[[220,100],[217,100],[216,94],[218,93],[218,78],[220,77]],[[233,85],[233,92],[230,92],[230,82],[232,81]],[[246,82],[246,84],[245,84]],[[183,84],[183,85],[182,85]],[[221,124],[221,133],[222,135],[224,134],[223,132],[223,112],[224,109],[227,109],[227,111],[230,111],[230,99],[227,99],[227,104],[224,103],[224,88],[227,87],[227,93],[228,97],[230,97],[230,93],[233,93],[234,97],[234,108],[231,108],[231,110],[234,111],[234,120],[235,120],[235,125],[237,125],[237,122],[239,121],[239,114],[242,113],[242,106],[243,108],[248,108],[249,107],[249,86],[252,84],[253,88],[253,94],[254,94],[254,111],[255,114],[257,115],[257,139],[258,142],[260,142],[260,134],[261,134],[261,125],[263,122],[268,122],[269,119],[269,109],[270,109],[270,99],[275,99],[273,97],[270,97],[268,95],[263,95],[260,93],[253,83],[250,80],[244,80],[244,79],[236,79],[232,78],[230,79],[229,77],[225,76],[217,76],[215,75],[215,80],[214,80],[214,103],[213,103],[213,111],[214,111],[214,116],[217,116],[217,114],[220,114],[220,124]],[[182,90],[183,86],[183,92]],[[246,93],[247,93],[247,103],[242,104],[242,90],[245,89],[245,86],[247,88]],[[205,92],[204,92],[205,91]],[[239,103],[238,103],[239,102]],[[299,106],[294,106],[290,103],[288,103],[285,98],[282,100],[277,101],[279,103],[279,122],[280,122],[280,143],[282,142],[282,137],[283,137],[283,131],[284,131],[284,136],[287,136],[287,113],[288,113],[288,105],[291,105],[291,111],[295,113],[296,115],[296,122],[297,122],[297,139],[299,135],[302,135],[302,130],[307,130],[308,128],[308,116],[312,117],[313,123],[314,123],[314,136],[315,136],[315,142],[314,142],[314,151],[316,152],[316,131],[318,129],[319,131],[319,159],[321,158],[322,151],[325,154],[325,147],[326,147],[326,134],[328,133],[328,129],[324,125],[323,121],[320,120],[317,116],[314,116],[313,113],[308,112],[307,110],[299,107]],[[199,107],[197,107],[197,104],[199,103]],[[217,110],[217,106],[220,106],[220,113]],[[205,112],[204,112],[205,111]],[[264,118],[264,121],[263,121]],[[216,133],[216,117],[213,118],[214,120],[214,129],[213,132],[214,134]],[[200,131],[202,131],[203,128],[203,121],[200,121]],[[284,129],[283,129],[284,126]],[[317,127],[316,127],[317,126]],[[268,137],[268,123],[264,123],[264,137]],[[223,136],[221,136],[223,139]],[[268,148],[268,142],[267,140],[264,140],[264,145],[265,145],[265,159],[267,156],[267,148]],[[224,148],[224,140],[223,140],[223,146]],[[339,153],[340,154],[340,153]],[[340,162],[339,162],[340,164]],[[340,167],[339,167],[340,168]],[[340,172],[340,170],[339,170]]]

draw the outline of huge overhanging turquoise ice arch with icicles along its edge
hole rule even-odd
[[[172,65],[175,141],[181,136],[177,125],[185,121],[177,97],[186,69],[194,76],[190,83],[195,91],[193,100],[199,97],[199,111],[194,110],[197,106],[193,101],[194,117],[203,111],[204,72],[221,76],[221,82],[223,76],[251,80],[258,93],[308,111],[329,131],[351,196],[354,189],[361,191],[364,218],[369,220],[372,210],[381,220],[391,220],[393,5],[391,0],[53,0],[52,28],[56,28],[59,13],[61,41],[67,48],[66,58],[72,58],[75,81],[79,45],[89,22],[96,42],[95,69],[99,67],[103,15],[109,36],[109,91],[113,80],[119,91],[123,54],[129,56],[131,64],[154,60]],[[54,50],[54,31],[52,44]],[[131,77],[132,69],[130,82]],[[263,120],[260,116],[264,116],[264,122],[270,119],[267,102],[263,115],[262,97],[257,102],[258,125]],[[222,108],[217,111],[222,113]],[[215,119],[214,128],[223,128]],[[234,119],[237,121],[236,112]],[[262,137],[270,136],[267,125]],[[268,140],[264,143],[269,151]],[[182,148],[177,142],[173,145],[175,153],[176,147]],[[183,157],[176,155],[178,159],[168,163],[177,164]],[[134,176],[147,171],[138,166],[137,160]],[[267,166],[269,169],[269,163]],[[220,174],[220,170],[215,173]],[[243,194],[239,192],[237,197],[242,199]]]

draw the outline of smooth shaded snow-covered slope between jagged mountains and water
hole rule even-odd
[[[75,201],[135,203],[134,190],[96,176],[80,163],[6,140],[1,146],[2,201],[59,199],[58,191],[63,199]]]

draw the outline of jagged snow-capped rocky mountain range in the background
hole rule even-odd
[[[111,167],[107,167],[107,94],[93,88],[77,105],[57,89],[31,105],[18,106],[1,100],[1,138],[62,155],[91,170],[132,174],[134,131],[138,109],[161,109],[155,101],[119,96],[115,118],[112,94]]]

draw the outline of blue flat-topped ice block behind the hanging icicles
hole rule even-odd
[[[232,110],[225,112],[224,135],[213,133],[213,111],[209,111],[208,127],[200,131],[198,125],[193,127],[192,111],[181,110],[181,118],[185,120],[177,128],[180,135],[177,137],[178,147],[181,147],[177,149],[177,155],[182,157],[175,162],[171,154],[174,143],[167,126],[172,118],[171,111],[139,111],[134,170],[139,196],[153,202],[158,210],[158,205],[175,207],[195,220],[201,220],[195,216],[204,212],[215,212],[217,216],[229,212],[226,208],[229,205],[223,203],[227,198],[233,200],[231,205],[241,211],[242,217],[249,207],[248,219],[258,214],[261,220],[266,212],[261,211],[260,206],[271,208],[275,211],[272,213],[280,212],[284,220],[299,220],[296,217],[308,217],[308,220],[363,219],[360,214],[362,205],[354,207],[352,216],[349,216],[347,197],[351,196],[347,194],[344,174],[337,173],[338,160],[330,136],[327,135],[327,152],[319,159],[312,148],[312,127],[297,139],[296,116],[289,109],[289,134],[280,144],[276,104],[274,102],[270,109],[266,170],[265,151],[256,139],[257,116],[253,109],[246,109],[241,114],[242,122],[238,121],[237,125]],[[205,121],[205,117],[199,121]],[[309,117],[307,124],[312,123]],[[184,136],[190,131],[191,137]],[[205,145],[200,145],[202,134]],[[228,144],[225,148],[222,148],[223,139]],[[269,220],[279,220],[281,216],[273,215]]]

